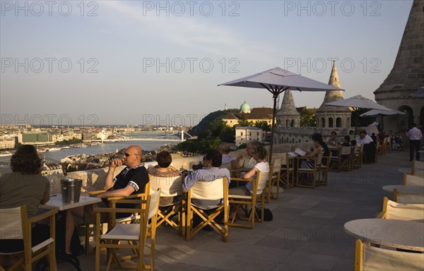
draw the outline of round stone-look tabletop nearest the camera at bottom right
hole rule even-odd
[[[381,246],[424,251],[424,223],[395,219],[356,219],[344,224],[355,238]]]

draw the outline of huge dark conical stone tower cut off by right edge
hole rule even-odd
[[[401,127],[395,123],[386,124],[394,130],[408,128],[414,122],[424,126],[424,99],[409,97],[424,85],[423,10],[424,1],[414,0],[394,66],[374,92],[379,104],[406,112],[407,117],[402,119]]]

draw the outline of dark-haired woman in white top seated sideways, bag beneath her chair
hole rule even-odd
[[[240,178],[242,179],[254,179],[256,178],[258,173],[269,173],[269,164],[265,161],[265,157],[267,155],[266,147],[260,145],[255,147],[252,152],[252,155],[256,161],[256,164],[254,165],[253,169],[251,169],[246,174],[240,176]],[[252,195],[253,183],[252,181],[249,181],[245,186],[237,186],[234,188],[230,188],[230,191],[228,191],[228,193],[231,195]],[[258,189],[258,193],[262,193],[262,191],[259,191]]]

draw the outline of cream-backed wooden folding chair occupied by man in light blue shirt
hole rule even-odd
[[[197,200],[222,200],[222,205],[204,209],[192,203]],[[224,225],[221,226],[215,219],[223,214]],[[201,218],[201,222],[193,226],[194,214]],[[187,241],[197,234],[201,229],[210,226],[214,231],[223,236],[223,241],[228,242],[228,183],[227,178],[215,181],[197,181],[187,193]]]

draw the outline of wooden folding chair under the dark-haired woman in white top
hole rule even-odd
[[[266,186],[269,173],[257,173],[256,179],[241,179],[235,178],[231,181],[242,181],[242,182],[253,182],[252,195],[228,195],[228,202],[234,207],[234,215],[230,217],[230,227],[241,227],[241,228],[254,228],[255,219],[258,222],[264,221],[264,205],[265,205],[265,193],[264,188]],[[231,191],[230,191],[231,193]],[[261,213],[257,213],[257,198],[260,198],[259,204],[261,206]],[[240,214],[244,212],[244,214]],[[237,220],[236,220],[237,219]],[[238,221],[238,222],[237,222]],[[245,223],[243,223],[245,221]]]

